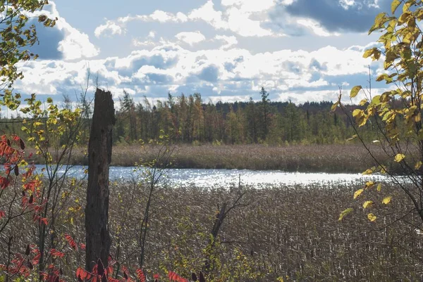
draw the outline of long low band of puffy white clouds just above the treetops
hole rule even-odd
[[[348,91],[348,87],[366,83],[371,60],[362,58],[362,51],[368,47],[326,46],[311,52],[283,49],[251,53],[239,48],[190,51],[165,44],[133,51],[129,56],[87,63],[55,60],[22,63],[20,70],[25,79],[16,88],[23,93],[69,93],[85,82],[88,64],[90,71],[98,74],[100,86],[114,89],[116,96],[123,89],[133,91],[135,101],[141,101],[144,95],[165,97],[168,91],[185,94],[197,91],[206,99],[216,95],[225,100],[240,96],[258,98],[262,85],[271,93],[271,99],[321,101],[329,93],[336,98],[338,85],[344,85]],[[374,74],[381,69],[380,63],[372,65]]]

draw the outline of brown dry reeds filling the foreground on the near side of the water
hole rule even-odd
[[[421,222],[409,213],[410,203],[396,187],[384,184],[382,192],[368,192],[375,203],[381,203],[386,194],[395,196],[384,208],[375,204],[379,221],[365,219],[357,202],[356,212],[338,222],[340,210],[350,205],[353,191],[362,185],[159,188],[149,222],[145,273],[151,277],[173,270],[190,277],[209,259],[209,281],[419,280],[423,275],[423,236],[415,226]],[[128,269],[137,264],[139,211],[145,207],[147,191],[147,186],[136,184],[111,186],[111,255]],[[216,211],[240,191],[247,191],[242,205],[228,214],[210,249]],[[83,250],[72,248],[64,236],[70,235],[77,244],[85,241],[84,193],[82,186],[77,189],[65,207],[66,215],[56,224],[56,236],[61,238],[56,249],[70,252],[55,259],[63,271],[61,278],[68,277],[67,281],[72,281],[75,269],[83,265]],[[32,219],[19,220],[10,226],[16,238],[13,248],[24,248],[32,241],[31,229],[21,228],[30,226]],[[6,254],[7,250],[0,252]]]

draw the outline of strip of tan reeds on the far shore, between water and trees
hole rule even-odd
[[[161,146],[114,146],[111,165],[133,166],[157,158]],[[204,169],[280,169],[287,172],[363,172],[374,165],[362,146],[349,145],[176,145],[171,167]],[[386,155],[379,147],[372,148],[379,160]],[[35,162],[42,160],[35,159]],[[85,148],[76,148],[73,165],[87,165]]]

